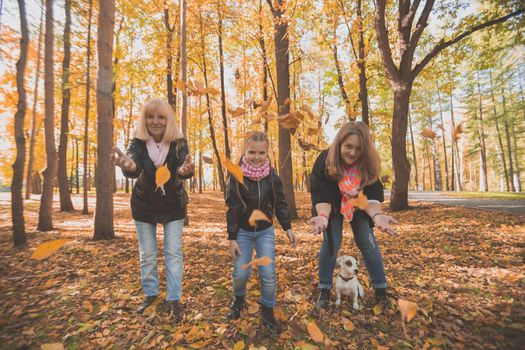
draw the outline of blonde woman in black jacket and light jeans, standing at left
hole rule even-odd
[[[181,180],[193,176],[195,165],[188,143],[179,130],[171,106],[164,100],[147,102],[139,116],[134,138],[126,153],[115,148],[115,164],[124,176],[138,178],[131,195],[131,213],[139,240],[140,276],[145,301],[137,309],[142,313],[159,295],[157,276],[157,224],[164,226],[167,294],[173,320],[183,317],[182,294],[182,226],[188,204]],[[168,182],[157,186],[156,170],[166,165]]]

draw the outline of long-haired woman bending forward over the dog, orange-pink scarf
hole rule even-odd
[[[337,252],[341,247],[343,221],[352,226],[354,240],[363,254],[378,302],[386,302],[386,276],[383,258],[374,237],[373,227],[395,233],[397,221],[381,212],[384,200],[379,155],[366,124],[349,122],[337,133],[327,150],[317,157],[310,179],[312,214],[308,221],[311,233],[323,233],[319,253],[319,297],[316,307],[328,308],[332,275]],[[353,206],[352,198],[359,192],[368,198],[361,210]]]

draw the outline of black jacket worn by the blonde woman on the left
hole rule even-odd
[[[170,179],[164,184],[163,195],[155,183],[155,165],[148,155],[146,143],[139,139],[131,140],[126,154],[137,165],[134,172],[123,171],[126,177],[138,178],[131,194],[131,214],[137,221],[149,223],[166,223],[185,217],[188,204],[188,194],[184,189],[182,179],[189,179],[193,173],[180,176],[177,170],[184,163],[188,154],[188,143],[178,139],[170,144],[166,162],[171,173]]]

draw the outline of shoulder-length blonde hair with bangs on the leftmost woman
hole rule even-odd
[[[150,100],[142,106],[140,111],[139,120],[137,126],[135,127],[134,137],[147,141],[151,136],[148,132],[148,127],[146,125],[146,118],[151,114],[163,115],[166,117],[166,130],[164,130],[164,135],[162,136],[162,141],[172,142],[177,139],[184,138],[184,135],[179,129],[179,125],[175,120],[175,114],[173,114],[173,109],[168,102],[163,99],[156,98]]]

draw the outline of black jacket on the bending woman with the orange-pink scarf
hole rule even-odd
[[[312,174],[310,177],[310,194],[312,198],[312,214],[315,213],[315,205],[317,203],[330,203],[332,204],[332,213],[339,212],[341,210],[341,191],[336,180],[332,179],[328,175],[326,169],[326,157],[328,156],[328,150],[324,150],[317,156]],[[381,181],[365,186],[363,193],[368,199],[377,200],[383,202],[385,200],[383,193],[383,184]]]

